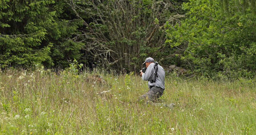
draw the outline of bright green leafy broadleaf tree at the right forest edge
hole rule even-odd
[[[234,3],[230,3],[234,5]],[[186,19],[169,28],[166,43],[181,50],[184,63],[198,75],[213,77],[217,74],[228,78],[253,77],[256,60],[255,17],[229,7],[230,18],[223,16],[218,3],[212,7],[207,0],[184,3]]]

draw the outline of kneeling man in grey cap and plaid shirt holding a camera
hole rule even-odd
[[[154,103],[156,99],[161,97],[164,93],[164,69],[160,66],[155,60],[151,57],[146,58],[143,63],[146,65],[147,70],[145,73],[140,71],[140,76],[143,80],[148,81],[148,92],[139,97],[141,100],[146,100],[150,104],[154,105],[162,105],[164,107],[173,108],[173,103],[166,105],[164,103]],[[152,74],[155,74],[155,77],[151,77]],[[155,79],[155,80],[154,80]]]

